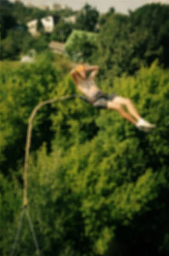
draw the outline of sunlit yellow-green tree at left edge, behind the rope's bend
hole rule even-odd
[[[63,76],[61,70],[63,72],[65,67],[56,70],[51,64],[52,59],[47,58],[46,54],[42,56],[44,57],[34,64],[22,64],[12,71],[3,69],[1,72],[2,139],[0,161],[3,173],[7,173],[10,168],[17,169],[17,161],[23,159],[24,156],[28,117],[35,105],[50,98],[51,92]],[[50,150],[50,141],[52,134],[54,134],[50,131],[49,113],[51,113],[52,108],[47,106],[45,110],[48,113],[45,113],[43,109],[39,118],[34,122],[36,130],[36,135],[32,139],[34,141],[32,149],[34,150],[46,139],[48,150]],[[45,122],[41,122],[42,119]]]

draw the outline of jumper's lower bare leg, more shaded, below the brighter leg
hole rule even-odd
[[[131,122],[133,125],[136,125],[137,121],[135,121],[135,119],[132,118],[132,116],[130,116],[129,113],[127,113],[124,108],[121,106],[121,104],[116,103],[114,101],[109,101],[107,102],[107,108],[108,109],[112,109],[112,110],[116,110],[118,111],[118,113],[124,118],[127,119],[129,122]]]

